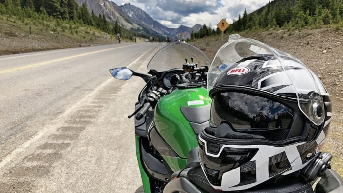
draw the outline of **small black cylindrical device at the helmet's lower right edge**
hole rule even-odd
[[[300,174],[306,181],[311,182],[320,177],[326,169],[331,169],[331,159],[332,155],[330,153],[320,153],[305,168],[301,169]]]

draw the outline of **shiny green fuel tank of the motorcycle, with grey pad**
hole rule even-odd
[[[162,154],[167,162],[178,162],[169,163],[174,166],[173,170],[186,165],[188,152],[198,146],[197,134],[208,126],[211,101],[207,101],[207,95],[204,87],[175,89],[163,96],[155,107],[155,128],[167,148],[172,148],[177,155],[175,158]]]

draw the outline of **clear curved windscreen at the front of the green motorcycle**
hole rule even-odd
[[[198,48],[184,42],[174,42],[161,48],[150,60],[147,68],[158,72],[182,68],[185,59],[197,63],[198,67],[209,66],[211,60]]]

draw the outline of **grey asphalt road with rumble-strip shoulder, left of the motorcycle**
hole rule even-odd
[[[0,57],[0,192],[141,192],[133,112],[158,43]]]

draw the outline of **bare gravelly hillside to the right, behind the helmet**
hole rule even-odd
[[[332,167],[343,176],[343,30],[269,30],[262,33],[245,32],[240,35],[296,56],[319,76],[333,103],[333,117],[324,151],[334,156]],[[224,39],[227,41],[228,35]],[[221,47],[221,36],[199,39],[192,44],[205,51],[212,59]]]

